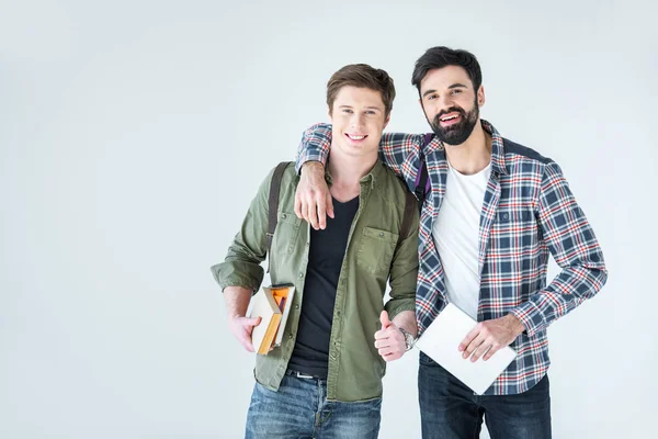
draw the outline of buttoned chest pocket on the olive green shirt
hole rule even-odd
[[[388,272],[398,234],[374,227],[363,227],[356,263],[371,273]]]

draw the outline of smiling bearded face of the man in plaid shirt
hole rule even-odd
[[[485,90],[474,90],[462,67],[446,66],[428,71],[420,82],[420,104],[436,137],[461,145],[479,123]]]

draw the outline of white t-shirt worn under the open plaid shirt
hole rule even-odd
[[[449,164],[445,195],[432,237],[445,271],[447,300],[477,319],[479,301],[479,221],[491,164],[464,176]]]

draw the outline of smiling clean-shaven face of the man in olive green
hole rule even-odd
[[[342,87],[329,109],[333,124],[332,150],[347,156],[376,156],[388,116],[382,93],[362,87]]]

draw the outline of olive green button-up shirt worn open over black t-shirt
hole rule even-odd
[[[254,292],[260,289],[263,280],[260,264],[268,249],[265,233],[272,173],[261,183],[225,261],[212,268],[223,290],[226,286],[243,286]],[[279,223],[270,254],[272,283],[295,285],[293,307],[281,347],[266,356],[258,354],[256,361],[256,380],[272,390],[279,389],[286,371],[304,303],[310,228],[294,214],[298,181],[294,167],[288,166],[282,178]],[[327,181],[331,184],[328,173]],[[374,347],[379,314],[386,308],[393,319],[402,311],[415,309],[418,274],[416,202],[409,234],[398,245],[406,190],[381,161],[361,179],[359,211],[348,237],[333,307],[327,376],[327,398],[330,401],[353,402],[382,396],[385,361]],[[388,279],[390,299],[384,306]]]

